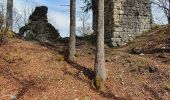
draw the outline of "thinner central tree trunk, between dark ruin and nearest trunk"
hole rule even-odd
[[[70,39],[69,60],[75,60],[76,54],[76,0],[70,0]]]

